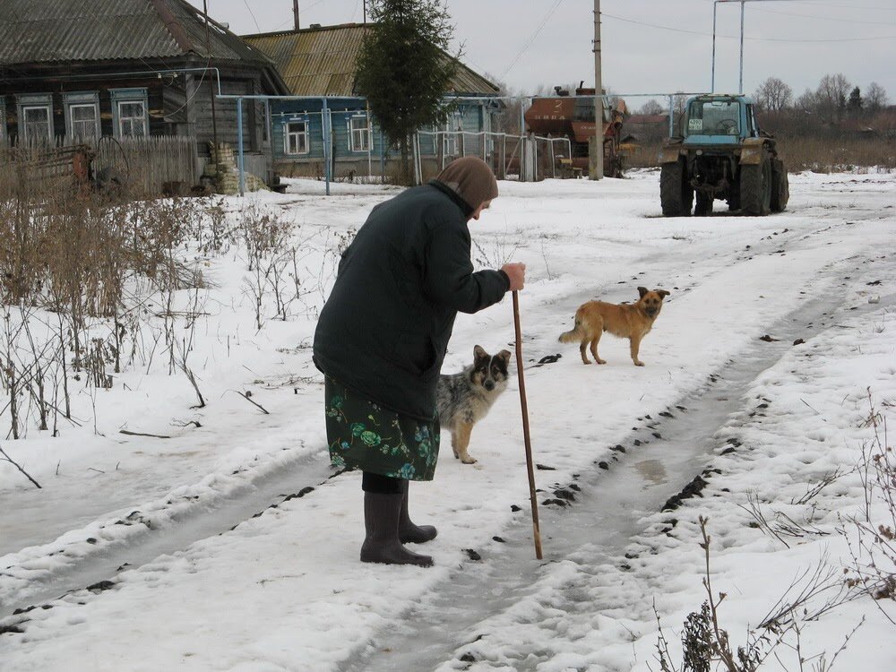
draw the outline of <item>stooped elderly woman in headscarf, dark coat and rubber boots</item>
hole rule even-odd
[[[408,513],[409,480],[432,480],[439,451],[435,388],[458,311],[522,289],[525,265],[473,272],[470,220],[498,195],[474,157],[377,205],[342,254],[314,334],[334,466],[362,470],[361,561],[430,566],[404,547],[435,538]]]

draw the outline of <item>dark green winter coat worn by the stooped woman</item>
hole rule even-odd
[[[500,301],[503,271],[473,272],[470,205],[435,180],[377,205],[349,248],[314,334],[314,364],[411,418],[435,417],[458,311]]]

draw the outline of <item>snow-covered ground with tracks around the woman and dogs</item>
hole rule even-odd
[[[80,426],[3,442],[42,488],[0,462],[0,670],[646,672],[660,626],[681,668],[685,617],[707,599],[701,516],[733,648],[818,574],[832,587],[805,608],[822,609],[852,563],[849,518],[866,513],[855,468],[892,445],[896,176],[794,175],[780,215],[680,219],[659,217],[658,177],[501,183],[471,222],[478,264],[527,264],[544,559],[514,377],[473,432],[478,463],[455,461],[445,435],[435,480],[411,486],[415,518],[439,530],[430,569],[358,562],[359,477],[332,477],[310,358],[332,250],[396,190],[296,181],[228,199],[232,221],[251,203],[297,226],[305,293],[256,329],[245,255],[186,250],[210,280],[190,354],[208,405],[191,408],[192,385],[156,358],[83,387]],[[647,366],[624,340],[601,341],[606,366],[557,343],[583,301],[638,286],[671,292]],[[509,297],[459,316],[444,370],[476,344],[513,350]],[[849,600],[800,622],[798,651],[785,633],[763,668],[836,654],[833,669],[889,672],[891,618],[892,600]]]

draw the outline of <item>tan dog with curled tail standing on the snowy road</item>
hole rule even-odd
[[[585,349],[590,343],[591,354],[598,364],[607,364],[606,359],[598,357],[598,341],[603,332],[610,332],[621,339],[628,339],[632,351],[634,366],[644,366],[638,358],[641,340],[646,336],[656,321],[663,307],[663,298],[669,293],[665,289],[650,291],[639,287],[641,298],[635,304],[608,304],[605,301],[589,301],[579,306],[575,312],[573,331],[560,334],[561,343],[580,341],[579,351],[582,362],[590,364]]]

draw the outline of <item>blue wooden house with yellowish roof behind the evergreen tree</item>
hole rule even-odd
[[[302,97],[271,100],[271,147],[280,174],[324,174],[324,118],[332,129],[329,156],[334,177],[388,171],[397,150],[379,131],[365,99],[355,90],[355,63],[367,30],[369,24],[313,24],[301,30],[243,36],[277,65],[290,95]],[[456,156],[476,154],[488,159],[494,150],[494,140],[485,134],[493,130],[501,106],[495,84],[461,64],[445,94],[459,97],[452,118],[443,128],[422,129],[418,136],[427,174]]]

